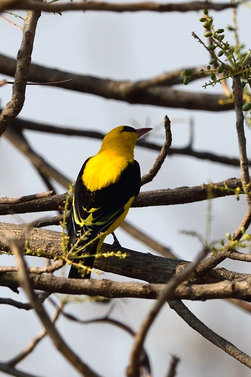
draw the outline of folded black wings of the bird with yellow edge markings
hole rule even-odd
[[[88,160],[87,160],[88,161]],[[68,219],[69,248],[86,234],[81,241],[85,245],[100,232],[105,232],[125,211],[131,198],[140,191],[140,167],[137,161],[129,162],[117,181],[101,190],[91,192],[82,181],[85,161],[75,184],[74,201]]]

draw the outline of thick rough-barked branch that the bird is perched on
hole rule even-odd
[[[25,225],[26,226],[26,225]],[[9,245],[5,241],[6,230],[11,230],[15,234],[17,242],[23,242],[27,237],[24,236],[24,226],[0,223],[0,250],[9,252]],[[53,259],[55,256],[62,256],[61,250],[61,233],[44,230],[39,228],[30,228],[29,231],[29,255],[39,254],[40,256]],[[186,267],[189,262],[163,258],[148,253],[140,253],[138,251],[129,250],[126,248],[118,248],[117,250],[126,253],[125,259],[118,257],[96,258],[94,267],[99,270],[115,273],[131,277],[133,279],[140,279],[148,281],[149,283],[166,283],[170,277],[176,272]],[[26,251],[26,250],[24,250]],[[101,251],[103,253],[114,251],[111,245],[103,244]],[[15,271],[15,268],[12,269]],[[1,273],[3,276],[8,276],[6,273]],[[43,275],[42,275],[43,276]],[[216,283],[222,280],[236,280],[246,279],[248,274],[235,273],[233,271],[225,270],[224,268],[215,268],[208,271],[204,276],[192,277],[192,282],[197,284]],[[39,277],[37,277],[39,279]],[[74,279],[72,279],[74,281]],[[76,285],[79,280],[75,282]]]

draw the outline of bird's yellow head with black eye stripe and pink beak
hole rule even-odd
[[[133,151],[137,139],[151,130],[152,128],[116,127],[105,135],[100,151],[111,148],[125,148]]]

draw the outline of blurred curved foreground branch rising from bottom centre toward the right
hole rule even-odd
[[[178,285],[180,285],[184,280],[186,280],[189,277],[189,275],[193,271],[195,271],[196,267],[202,261],[202,259],[204,259],[208,251],[209,250],[207,248],[204,248],[198,254],[193,263],[189,264],[183,271],[174,275],[172,279],[169,280],[163,292],[161,292],[161,294],[158,296],[157,302],[151,308],[151,310],[145,317],[145,320],[143,321],[142,325],[140,326],[140,329],[135,335],[134,344],[132,346],[131,356],[129,360],[129,366],[127,369],[128,377],[138,377],[139,375],[139,360],[140,355],[142,353],[143,344],[146,339],[146,335],[148,334],[148,331],[152,326],[152,323],[156,319],[158,313],[160,313],[161,308],[166,303],[166,300],[169,299],[170,295],[173,293],[175,288],[177,288]]]

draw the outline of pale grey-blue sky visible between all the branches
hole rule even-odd
[[[18,12],[18,14],[23,14]],[[202,12],[187,14],[157,14],[151,12],[113,14],[110,12],[67,12],[62,16],[43,14],[37,26],[32,60],[80,74],[97,75],[118,80],[139,80],[151,78],[163,71],[186,66],[207,64],[208,55],[202,46],[191,36],[195,31],[203,36],[202,24],[198,21]],[[214,25],[224,28],[232,24],[231,11],[211,12]],[[7,16],[7,15],[6,15]],[[242,6],[238,21],[240,40],[250,48],[250,8]],[[21,22],[14,19],[15,22]],[[0,18],[1,53],[15,57],[20,47],[22,32]],[[232,40],[231,34],[225,32]],[[3,77],[5,78],[5,77]],[[7,77],[8,78],[8,77]],[[0,77],[0,79],[2,79]],[[67,77],[66,77],[67,79]],[[203,91],[200,83],[189,84],[183,90]],[[231,83],[230,83],[231,85]],[[2,107],[11,98],[11,86],[1,87]],[[220,86],[207,88],[221,92]],[[95,129],[104,133],[120,124],[154,128],[149,139],[163,143],[163,118],[168,115],[172,121],[173,146],[185,146],[189,140],[189,118],[195,123],[196,150],[208,150],[221,155],[237,156],[238,146],[234,112],[206,113],[202,111],[167,109],[163,107],[129,105],[115,100],[106,100],[48,86],[28,86],[26,101],[20,118],[37,120],[58,126]],[[69,136],[51,136],[32,131],[25,132],[32,146],[54,166],[72,180],[78,175],[85,159],[95,154],[100,141]],[[250,152],[250,130],[246,128],[247,152]],[[141,166],[142,175],[152,167],[156,152],[135,148],[135,158]],[[17,197],[45,190],[30,162],[12,147],[5,138],[0,140],[0,196]],[[200,185],[203,182],[218,182],[231,177],[239,177],[239,169],[197,161],[194,158],[172,156],[166,159],[158,176],[142,190],[175,188]],[[55,184],[58,193],[65,189]],[[245,213],[245,198],[239,202],[235,198],[216,199],[212,203],[212,239],[223,238],[233,233]],[[205,235],[207,203],[194,203],[169,207],[132,208],[127,219],[137,225],[162,244],[171,247],[181,259],[193,260],[201,248],[198,240],[180,234],[182,229],[196,230]],[[44,214],[0,216],[1,221],[30,221]],[[58,227],[52,229],[60,231]],[[143,252],[153,252],[145,245],[131,239],[118,229],[116,232],[123,247]],[[111,238],[106,239],[112,242]],[[1,256],[2,264],[15,263],[11,257]],[[34,261],[33,264],[43,263]],[[248,272],[248,266],[238,262],[225,262],[226,268]],[[67,271],[65,271],[65,275]],[[96,276],[95,276],[96,277]],[[121,280],[121,277],[104,274],[101,278]],[[125,279],[126,280],[126,279]],[[26,300],[9,290],[1,288],[1,297]],[[56,295],[58,298],[59,295]],[[147,300],[113,300],[112,316],[122,320],[137,330],[152,302]],[[189,308],[216,333],[230,340],[242,351],[251,354],[250,317],[231,306],[230,303],[187,302]],[[67,307],[82,319],[105,314],[111,303],[72,303]],[[53,313],[53,308],[46,307]],[[14,356],[27,345],[41,329],[35,314],[12,307],[1,307],[0,360]],[[3,325],[4,324],[4,325]],[[92,365],[103,376],[120,377],[125,375],[132,339],[122,330],[111,325],[76,325],[64,319],[58,322],[65,340],[78,352],[79,356]],[[109,340],[108,340],[109,339]],[[211,345],[177,317],[167,306],[154,323],[146,342],[154,375],[163,376],[169,365],[170,354],[181,358],[178,367],[180,377],[246,377],[249,371],[230,356]],[[50,340],[43,340],[29,358],[20,364],[27,372],[40,376],[77,376],[78,373],[62,361],[58,352],[53,351]],[[0,372],[0,375],[1,372]]]

